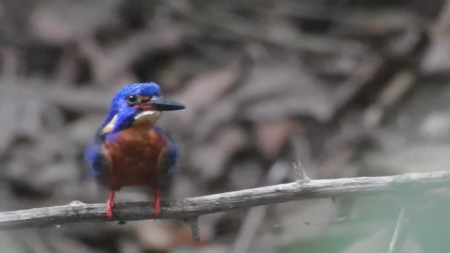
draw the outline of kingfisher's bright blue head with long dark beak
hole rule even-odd
[[[181,103],[162,98],[158,84],[129,84],[120,89],[113,98],[101,131],[108,134],[137,124],[153,126],[162,111],[184,108]]]

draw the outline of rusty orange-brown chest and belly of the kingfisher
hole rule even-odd
[[[158,157],[165,145],[158,131],[144,126],[133,126],[105,138],[111,188],[158,185]]]

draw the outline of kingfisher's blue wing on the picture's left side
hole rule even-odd
[[[105,149],[103,148],[103,136],[100,131],[96,134],[94,141],[90,143],[84,151],[84,160],[88,164],[91,174],[98,181],[106,184],[108,179],[108,160],[105,157]]]

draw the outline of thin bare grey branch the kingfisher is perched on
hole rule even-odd
[[[195,220],[202,214],[269,205],[293,200],[340,197],[343,195],[411,194],[450,186],[450,171],[411,173],[397,176],[374,176],[350,179],[321,179],[264,186],[179,201],[162,202],[160,216],[153,216],[149,202],[117,203],[113,219],[107,219],[105,204],[43,207],[0,213],[0,230],[58,226],[65,223],[91,221],[138,221],[143,219]]]

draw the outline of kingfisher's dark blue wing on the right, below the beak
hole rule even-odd
[[[169,190],[172,185],[172,181],[174,179],[176,173],[176,159],[178,158],[178,150],[176,150],[176,146],[174,141],[172,141],[169,136],[167,136],[160,127],[154,127],[156,131],[165,138],[167,143],[164,148],[162,148],[161,153],[158,157],[158,168],[162,171],[162,175],[160,178],[160,189],[161,190]]]

